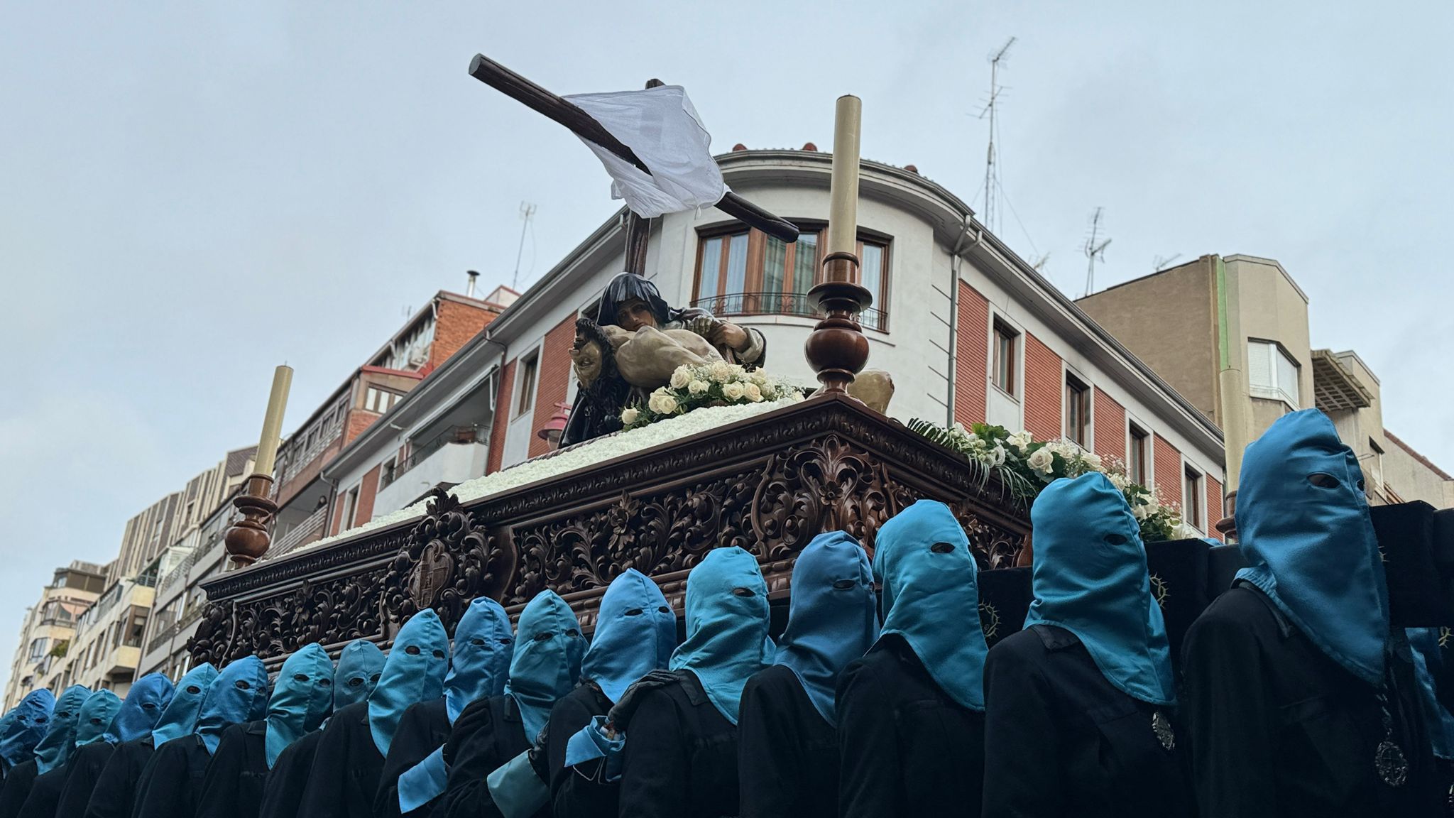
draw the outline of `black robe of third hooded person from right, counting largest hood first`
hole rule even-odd
[[[980,815],[984,713],[949,699],[899,635],[843,668],[838,745],[843,818]]]

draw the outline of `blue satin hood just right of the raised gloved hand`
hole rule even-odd
[[[743,549],[712,549],[686,575],[686,642],[672,652],[670,668],[692,671],[734,725],[747,678],[772,662],[768,622],[768,584],[758,557]]]

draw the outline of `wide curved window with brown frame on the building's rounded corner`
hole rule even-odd
[[[807,293],[822,279],[824,233],[804,229],[791,245],[756,230],[704,236],[692,304],[718,316],[817,316]],[[856,250],[859,282],[874,295],[859,320],[887,332],[888,243],[861,237]]]

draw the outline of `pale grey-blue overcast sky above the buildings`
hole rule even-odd
[[[0,677],[71,559],[285,431],[436,290],[522,284],[615,211],[596,159],[470,79],[686,86],[714,147],[832,144],[979,210],[987,55],[1009,36],[1000,233],[1079,295],[1156,256],[1282,262],[1314,346],[1354,348],[1384,424],[1454,469],[1454,6],[1328,3],[0,1]],[[1013,7],[1011,7],[1013,6]],[[619,10],[614,10],[619,9]]]

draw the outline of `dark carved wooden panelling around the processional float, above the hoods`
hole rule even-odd
[[[426,607],[452,633],[478,595],[515,613],[544,588],[590,627],[625,569],[680,605],[686,572],[723,546],[758,555],[778,597],[814,536],[846,530],[871,549],[920,498],[955,509],[981,568],[1015,563],[1029,524],[997,483],[851,397],[814,397],[471,504],[436,492],[406,525],[227,573],[206,585],[190,651],[222,665],[281,661],[308,642],[388,642]]]

